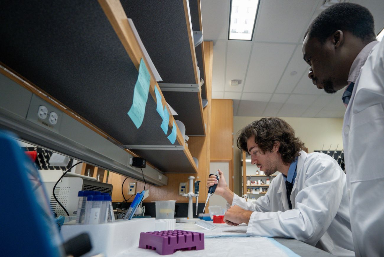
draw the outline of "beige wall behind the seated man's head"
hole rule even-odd
[[[255,120],[259,120],[262,117],[233,117],[233,175],[234,175],[234,187],[235,193],[241,191],[241,173],[240,173],[240,150],[236,147],[237,133],[244,126],[250,124]],[[324,144],[324,150],[328,150],[332,144],[331,150],[335,150],[338,146],[338,150],[343,149],[343,138],[341,137],[341,129],[343,127],[343,119],[336,118],[293,118],[293,117],[281,117],[290,124],[296,132],[296,136],[300,137],[308,147],[309,152],[314,150],[320,150]]]

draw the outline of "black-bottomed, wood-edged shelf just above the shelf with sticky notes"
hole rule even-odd
[[[188,0],[121,0],[157,68],[166,101],[187,135],[205,135]],[[201,44],[200,44],[201,45]],[[203,67],[200,68],[204,73]]]

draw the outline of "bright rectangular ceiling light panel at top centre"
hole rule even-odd
[[[252,40],[258,0],[232,0],[228,39]]]

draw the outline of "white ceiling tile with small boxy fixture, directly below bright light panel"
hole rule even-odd
[[[241,92],[244,86],[245,72],[251,53],[252,42],[228,41],[227,69],[225,74],[225,91]],[[231,87],[230,81],[241,80],[237,87]]]

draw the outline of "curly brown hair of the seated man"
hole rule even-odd
[[[248,153],[247,140],[252,136],[255,136],[255,143],[263,153],[271,151],[275,142],[280,142],[279,153],[287,165],[300,155],[304,147],[304,143],[295,137],[291,125],[276,117],[266,117],[245,126],[237,138],[237,147]]]

